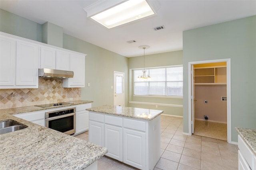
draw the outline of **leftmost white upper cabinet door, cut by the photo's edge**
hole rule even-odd
[[[15,85],[16,41],[5,36],[0,39],[0,86]]]

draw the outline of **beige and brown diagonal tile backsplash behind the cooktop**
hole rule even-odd
[[[63,88],[62,79],[39,78],[38,88],[0,89],[0,109],[81,99],[81,88]]]

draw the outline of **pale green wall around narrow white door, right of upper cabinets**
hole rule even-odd
[[[128,58],[90,44],[81,39],[63,34],[63,48],[87,54],[85,57],[85,88],[82,100],[92,100],[92,106],[113,105],[114,71],[124,72],[125,94],[128,94]],[[88,87],[87,84],[90,83]],[[125,96],[128,106],[128,95]]]

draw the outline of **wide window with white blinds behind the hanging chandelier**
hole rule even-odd
[[[150,81],[138,80],[142,69],[134,70],[134,95],[183,96],[183,67],[148,68]]]

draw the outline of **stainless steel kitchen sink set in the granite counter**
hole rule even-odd
[[[26,126],[21,125],[14,120],[0,122],[0,134],[14,132],[24,128],[26,128]]]

